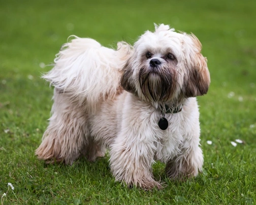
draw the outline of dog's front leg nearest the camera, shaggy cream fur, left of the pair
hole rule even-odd
[[[153,156],[154,145],[148,137],[121,132],[111,146],[111,171],[117,181],[124,181],[127,185],[143,189],[161,188],[161,184],[153,179]]]

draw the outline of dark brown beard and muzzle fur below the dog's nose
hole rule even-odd
[[[139,83],[143,95],[152,102],[170,100],[175,91],[175,75],[174,71],[165,67],[141,67]]]

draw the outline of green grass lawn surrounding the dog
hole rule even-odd
[[[4,204],[255,204],[256,2],[0,0],[0,196]],[[115,182],[108,158],[72,166],[34,156],[47,126],[52,89],[40,79],[70,35],[105,46],[134,43],[153,23],[193,32],[208,58],[211,86],[199,97],[204,170],[163,190]],[[233,92],[233,96],[228,97]],[[231,141],[241,139],[237,147]],[[210,140],[212,145],[206,142]],[[12,183],[14,190],[8,188]],[[3,200],[2,199],[2,200]]]

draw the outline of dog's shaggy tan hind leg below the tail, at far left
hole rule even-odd
[[[52,116],[36,150],[39,159],[48,163],[72,164],[88,144],[88,122],[82,107],[70,101],[66,93],[55,90]]]

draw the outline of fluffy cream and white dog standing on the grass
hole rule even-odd
[[[43,78],[54,86],[49,125],[36,155],[48,163],[94,161],[109,149],[117,181],[161,188],[152,164],[166,163],[170,179],[202,170],[199,108],[210,74],[193,34],[155,25],[117,49],[78,38],[62,46]]]

